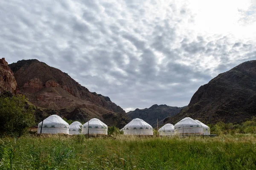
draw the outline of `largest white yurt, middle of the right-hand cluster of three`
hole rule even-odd
[[[186,117],[174,125],[175,134],[203,134],[203,127],[190,117]]]

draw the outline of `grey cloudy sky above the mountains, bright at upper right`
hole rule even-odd
[[[45,62],[125,111],[184,106],[256,59],[256,0],[0,0],[0,57]]]

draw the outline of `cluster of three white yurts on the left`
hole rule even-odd
[[[88,134],[91,135],[107,135],[108,126],[99,119],[90,119],[90,121],[82,125],[80,122],[68,124],[58,115],[51,115],[38,124],[38,134],[57,134],[64,133],[70,135]]]

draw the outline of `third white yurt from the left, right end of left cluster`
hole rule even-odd
[[[82,134],[88,134],[89,123],[89,135],[108,135],[108,126],[99,119],[93,118],[84,123],[82,127]]]

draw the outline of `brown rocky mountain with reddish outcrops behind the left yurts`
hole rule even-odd
[[[9,65],[17,81],[17,93],[47,114],[58,113],[67,119],[86,122],[98,118],[107,125],[124,126],[130,119],[111,99],[90,92],[67,73],[37,59]],[[40,119],[40,112],[36,115]]]

